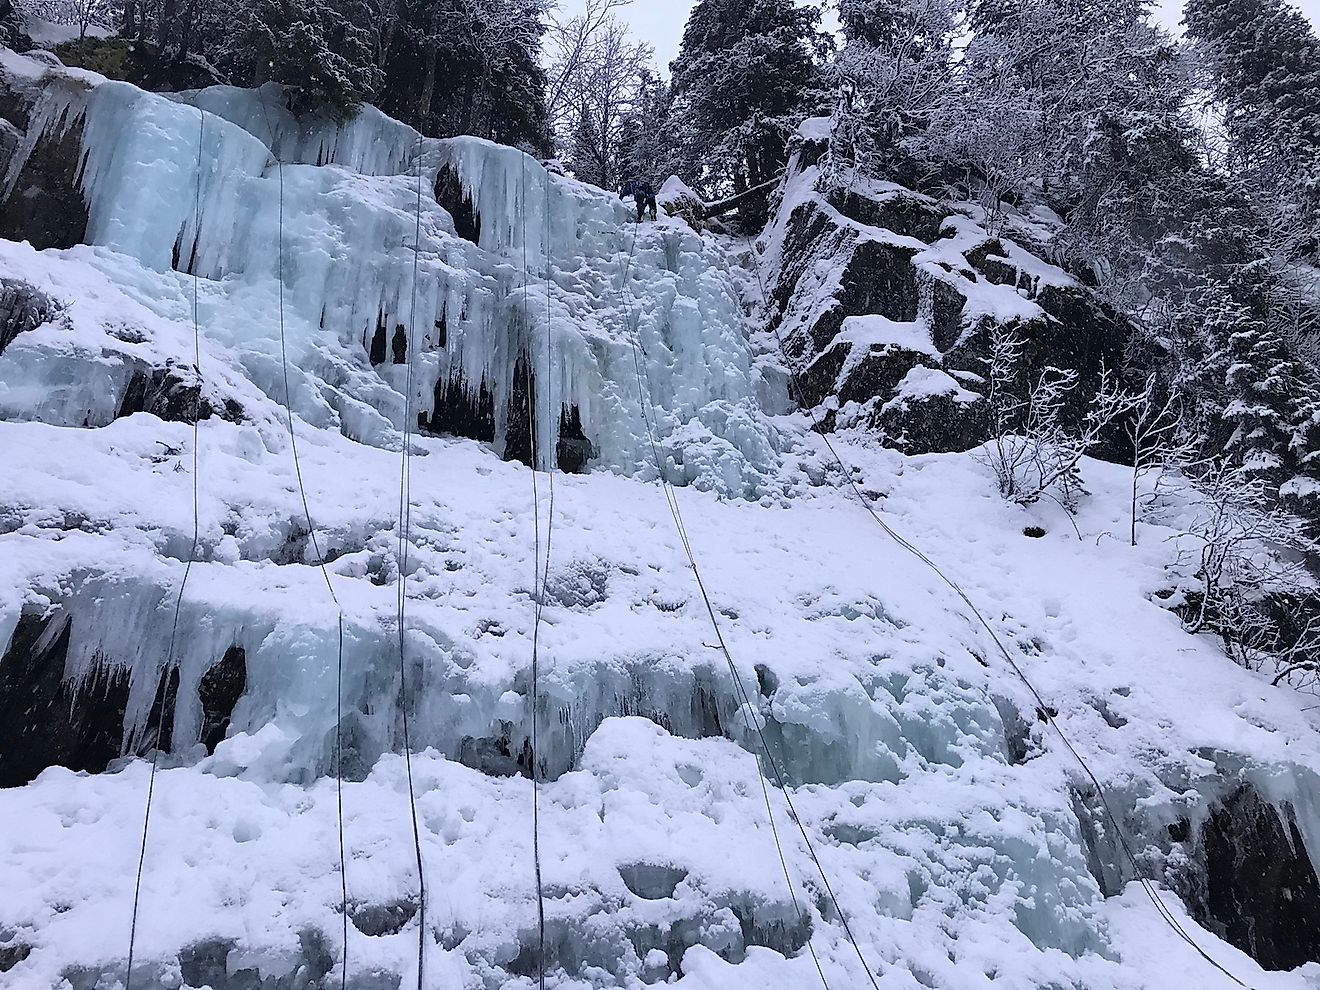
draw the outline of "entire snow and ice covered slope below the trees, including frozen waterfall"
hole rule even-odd
[[[634,244],[599,190],[371,111],[338,129],[276,91],[166,99],[4,59],[37,98],[16,194],[63,132],[87,153],[88,210],[86,244],[0,243],[24,304],[0,310],[26,314],[0,327],[0,983],[123,982],[150,767],[117,758],[168,739],[135,987],[413,986],[409,774],[425,986],[533,986],[536,718],[549,986],[808,987],[813,953],[830,986],[870,985],[785,793],[763,792],[756,723],[884,990],[1233,986],[1133,883],[1089,780],[962,602],[836,487],[718,239],[661,220]],[[301,164],[277,168],[272,144]],[[176,271],[190,259],[195,281]],[[553,532],[546,475],[507,459],[524,350],[543,466],[565,461],[565,422],[590,454],[556,474]],[[486,442],[444,436],[487,422],[482,378]],[[755,711],[656,483],[652,407]],[[411,440],[401,557],[409,414],[436,429]],[[1160,607],[1168,532],[1106,539],[1125,532],[1123,473],[1086,466],[1078,540],[1003,504],[974,457],[843,446],[1057,709],[1166,908],[1251,986],[1320,986],[1320,965],[1263,972],[1180,900],[1218,917],[1206,904],[1241,878],[1206,836],[1229,836],[1230,859],[1316,861],[1320,737],[1304,701]],[[1236,825],[1243,793],[1294,816],[1298,843]],[[1308,917],[1304,876],[1284,891]]]

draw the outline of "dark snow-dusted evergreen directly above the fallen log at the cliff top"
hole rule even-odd
[[[739,193],[774,178],[818,83],[820,11],[793,0],[701,0],[672,65],[682,178]]]

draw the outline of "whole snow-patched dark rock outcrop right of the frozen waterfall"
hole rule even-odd
[[[969,205],[892,183],[832,185],[814,165],[821,152],[800,139],[770,238],[771,325],[800,372],[800,401],[822,408],[828,428],[871,428],[907,453],[966,450],[986,438],[991,341],[1010,333],[1028,376],[1080,374],[1082,414],[1130,329],[1032,253],[1048,220],[1014,218],[994,235]],[[909,380],[917,368],[942,378]]]

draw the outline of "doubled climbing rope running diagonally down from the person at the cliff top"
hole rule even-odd
[[[628,285],[628,273],[630,273],[631,267],[632,267],[632,259],[634,259],[634,256],[636,253],[636,240],[638,240],[638,223],[635,222],[632,224],[632,247],[628,251],[628,261],[624,265],[623,282],[622,282],[622,288],[620,288],[620,296],[622,296],[623,292],[627,292],[628,301],[626,302],[626,308],[628,310],[630,325],[632,323],[632,319],[634,319],[634,304],[635,304],[636,300],[632,296],[631,286]],[[706,615],[710,618],[710,624],[711,624],[711,628],[713,628],[713,631],[715,634],[715,642],[717,642],[717,644],[719,647],[721,653],[725,657],[725,663],[729,667],[730,678],[734,682],[734,688],[737,690],[737,697],[741,701],[741,709],[743,711],[743,719],[747,723],[748,729],[752,729],[755,731],[756,741],[758,741],[758,743],[760,746],[762,756],[766,760],[766,764],[771,768],[771,772],[775,776],[775,783],[779,785],[780,792],[784,796],[784,803],[788,805],[788,814],[793,820],[793,822],[797,825],[797,830],[801,834],[804,845],[807,846],[807,853],[808,853],[812,863],[814,865],[817,874],[821,878],[821,884],[824,886],[825,894],[829,898],[829,902],[830,902],[832,907],[834,908],[834,913],[840,919],[840,924],[843,928],[843,933],[847,937],[847,941],[851,944],[853,950],[857,954],[858,961],[862,964],[862,969],[866,972],[866,977],[871,982],[873,989],[874,990],[879,990],[879,983],[876,983],[875,974],[871,972],[870,965],[867,965],[867,962],[866,962],[866,956],[862,952],[861,944],[857,941],[857,937],[853,933],[853,928],[849,924],[847,915],[843,912],[843,908],[840,904],[838,898],[834,895],[834,888],[833,888],[833,886],[829,882],[829,876],[828,876],[828,874],[825,871],[825,866],[824,866],[824,863],[821,863],[820,857],[816,854],[816,845],[812,842],[810,836],[807,832],[807,825],[804,824],[803,817],[797,813],[797,808],[793,805],[793,799],[792,799],[792,796],[788,792],[788,783],[787,783],[783,772],[780,771],[779,763],[775,760],[775,756],[771,752],[768,741],[766,739],[764,727],[763,727],[760,719],[755,717],[755,710],[756,709],[755,709],[755,705],[751,701],[751,694],[747,692],[747,686],[746,686],[746,684],[742,680],[742,675],[738,672],[738,665],[734,663],[733,652],[729,648],[729,643],[725,640],[723,630],[719,626],[719,619],[718,619],[718,616],[715,614],[714,603],[711,602],[710,594],[706,590],[705,578],[702,578],[702,576],[701,576],[701,568],[697,565],[696,550],[693,549],[692,540],[690,540],[690,537],[688,535],[688,527],[684,523],[682,511],[678,507],[678,495],[677,495],[677,491],[669,483],[669,479],[668,479],[668,477],[665,474],[665,470],[664,470],[664,462],[663,462],[663,459],[660,457],[660,446],[659,446],[659,442],[656,440],[656,432],[657,430],[656,430],[656,426],[652,424],[652,416],[653,416],[655,411],[651,408],[649,379],[648,379],[648,375],[643,371],[644,364],[642,362],[642,352],[643,352],[644,348],[642,347],[642,343],[638,339],[639,338],[639,331],[640,331],[640,326],[630,326],[630,334],[628,334],[628,337],[630,337],[630,341],[631,341],[631,345],[632,345],[632,364],[634,364],[634,371],[635,371],[636,379],[638,379],[639,399],[642,400],[642,417],[643,417],[643,421],[645,422],[647,437],[648,437],[648,440],[651,442],[652,457],[653,457],[655,463],[656,463],[656,471],[657,471],[657,474],[660,477],[660,486],[661,486],[661,488],[664,490],[664,494],[665,494],[665,502],[669,506],[669,515],[673,519],[675,528],[676,528],[676,531],[678,533],[678,540],[682,544],[682,549],[684,549],[685,556],[688,557],[688,565],[692,568],[693,577],[697,581],[697,589],[701,593],[702,601],[705,602]],[[775,849],[776,849],[776,851],[779,854],[779,862],[780,862],[780,866],[781,866],[783,873],[784,873],[784,880],[788,884],[789,898],[793,902],[793,909],[795,909],[795,912],[797,915],[799,924],[801,924],[804,921],[805,915],[803,912],[801,904],[797,900],[797,892],[796,892],[792,876],[791,876],[789,870],[788,870],[788,861],[787,861],[787,858],[784,855],[784,847],[783,847],[783,843],[781,843],[780,837],[779,837],[779,829],[775,825],[775,812],[774,812],[774,805],[772,805],[771,799],[770,799],[770,788],[767,785],[764,774],[762,774],[762,772],[758,771],[756,776],[758,776],[758,780],[760,781],[762,795],[763,795],[764,801],[766,801],[766,813],[767,813],[767,816],[770,818],[770,830],[771,830],[771,836],[772,836],[772,838],[775,841]],[[825,978],[825,970],[824,970],[824,968],[821,965],[820,958],[816,954],[816,948],[814,948],[814,945],[812,945],[810,939],[808,939],[808,941],[807,941],[807,949],[808,949],[808,952],[812,956],[812,962],[816,966],[816,973],[820,975],[821,983],[825,986],[825,990],[829,990],[829,982]]]

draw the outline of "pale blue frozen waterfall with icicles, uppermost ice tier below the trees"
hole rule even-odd
[[[7,185],[38,140],[81,124],[87,242],[214,282],[207,334],[244,351],[273,397],[282,397],[269,364],[282,264],[294,364],[329,385],[294,396],[309,421],[338,418],[356,440],[397,444],[411,352],[412,408],[422,421],[436,418],[450,384],[471,404],[486,389],[494,440],[506,449],[523,378],[515,372],[528,362],[543,467],[573,412],[590,463],[647,477],[655,467],[642,442],[636,335],[671,479],[767,494],[779,440],[756,413],[742,304],[710,239],[665,224],[643,230],[632,249],[622,202],[550,176],[515,149],[420,140],[371,108],[345,125],[302,125],[281,95],[273,86],[218,87],[183,103],[125,83],[48,86]],[[282,180],[272,145],[285,161]],[[459,238],[436,201],[442,172],[457,174],[479,218],[479,244]],[[343,387],[360,381],[378,337],[393,351],[392,363],[376,355],[389,388]],[[363,392],[372,408],[363,408]]]

